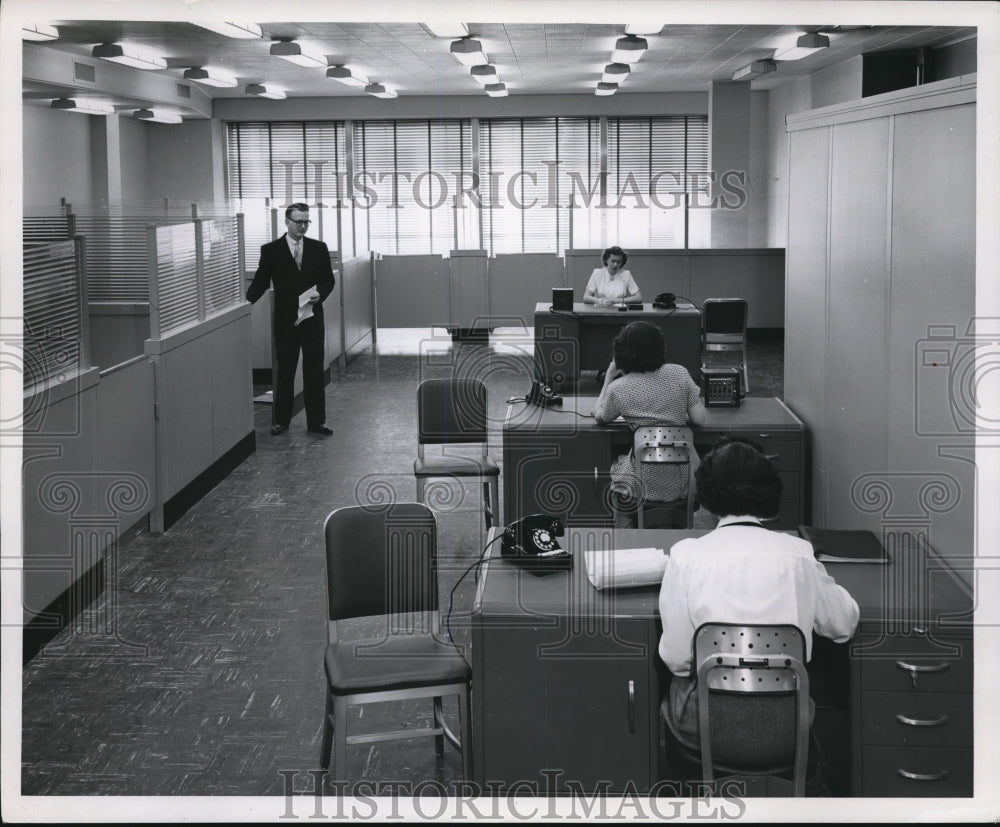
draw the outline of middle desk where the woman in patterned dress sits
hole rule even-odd
[[[595,396],[567,396],[561,407],[523,402],[507,409],[503,426],[504,510],[508,522],[542,512],[567,525],[611,525],[609,472],[627,453],[632,432],[624,422],[598,425],[590,414]],[[777,398],[750,397],[738,408],[708,408],[695,428],[695,447],[704,455],[721,436],[760,442],[783,485],[774,528],[797,529],[808,522],[805,496],[805,427]]]

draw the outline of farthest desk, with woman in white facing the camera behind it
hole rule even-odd
[[[611,361],[611,343],[629,322],[644,321],[663,331],[667,361],[683,365],[699,381],[701,370],[701,311],[693,304],[660,310],[643,304],[642,310],[618,310],[575,303],[573,310],[535,305],[535,370],[554,384],[576,379],[581,370],[604,370]]]

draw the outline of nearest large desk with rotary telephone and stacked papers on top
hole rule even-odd
[[[591,793],[602,785],[606,792],[650,789],[660,777],[664,691],[658,588],[597,591],[581,552],[669,552],[702,533],[570,528],[560,544],[573,553],[573,569],[543,577],[500,558],[498,544],[490,547],[472,618],[476,782],[495,791],[527,781],[543,794],[576,784]],[[933,566],[827,569],[861,609],[855,641],[845,647],[853,794],[971,795],[972,600],[964,586]],[[918,673],[911,687],[900,661],[935,671]],[[942,714],[952,720],[937,727],[896,719]],[[900,770],[944,777],[908,778]]]

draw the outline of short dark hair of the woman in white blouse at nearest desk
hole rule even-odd
[[[778,513],[781,478],[754,440],[723,437],[701,461],[694,479],[702,505],[716,517],[767,519]]]

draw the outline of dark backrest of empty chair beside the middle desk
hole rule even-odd
[[[481,379],[425,379],[417,387],[420,445],[487,441],[486,383]]]

